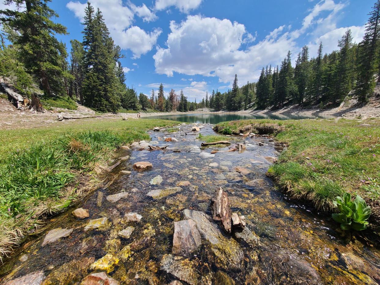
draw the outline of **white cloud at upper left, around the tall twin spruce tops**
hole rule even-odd
[[[146,32],[140,27],[131,26],[135,13],[144,21],[153,21],[156,18],[146,5],[137,7],[130,3],[130,7],[128,7],[123,5],[122,0],[92,0],[91,4],[103,13],[104,20],[115,43],[122,49],[130,49],[134,58],[139,58],[155,46],[161,33],[160,29]],[[83,21],[86,3],[70,1],[66,6]]]

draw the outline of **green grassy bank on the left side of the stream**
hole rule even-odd
[[[43,215],[86,195],[117,147],[149,139],[147,129],[176,124],[108,119],[0,131],[0,257]]]

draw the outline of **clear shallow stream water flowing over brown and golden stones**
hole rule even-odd
[[[206,125],[201,133],[212,134],[211,127]],[[119,150],[115,162],[121,163],[108,174],[108,183],[80,205],[52,218],[39,235],[31,236],[3,264],[2,281],[43,272],[43,284],[79,284],[98,270],[108,271],[121,284],[380,282],[377,235],[342,233],[329,217],[289,199],[265,176],[283,150],[280,144],[265,137],[237,137],[231,146],[242,142],[245,151],[211,156],[212,150],[228,150],[228,146],[199,149],[196,136],[184,133],[191,127],[180,128],[170,135],[150,132],[150,144],[169,146],[166,151],[149,151],[143,149],[144,144]],[[163,142],[165,136],[175,136],[179,142]],[[136,171],[133,164],[138,161],[148,161],[153,167]],[[212,221],[210,200],[219,187],[228,193],[231,210],[245,216],[242,233],[227,234]],[[104,194],[101,205],[98,192]],[[109,196],[120,192],[118,201]],[[75,219],[71,211],[78,207],[88,209],[90,216]],[[141,215],[141,221],[128,221],[125,214],[129,212]],[[173,252],[174,222],[189,215],[201,233],[201,245],[180,256]],[[103,217],[108,221],[104,227],[85,230],[90,220]],[[56,228],[73,231],[42,247],[47,232]],[[129,237],[119,236],[123,229],[131,230]],[[93,269],[91,264],[104,256],[103,268]]]

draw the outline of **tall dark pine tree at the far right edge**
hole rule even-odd
[[[363,41],[358,47],[358,78],[355,92],[360,102],[367,101],[375,86],[376,52],[380,34],[380,0],[377,0],[369,16]]]

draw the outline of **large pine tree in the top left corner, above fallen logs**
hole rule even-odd
[[[5,0],[4,4],[15,3],[16,10],[0,10],[0,22],[8,25],[14,33],[13,44],[30,74],[38,78],[41,89],[47,95],[62,95],[62,81],[71,79],[67,71],[67,52],[55,34],[66,35],[66,27],[54,23],[51,18],[58,14],[47,5],[50,0]]]

